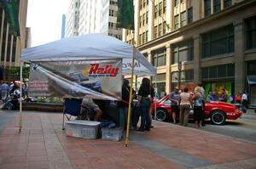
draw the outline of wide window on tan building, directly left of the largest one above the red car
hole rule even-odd
[[[185,42],[179,42],[172,45],[172,64],[191,61],[194,59],[194,41],[193,39]]]

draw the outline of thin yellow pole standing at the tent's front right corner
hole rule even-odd
[[[135,55],[135,40],[134,31],[132,31],[132,61],[131,61],[131,82],[130,82],[130,95],[129,95],[129,106],[128,106],[128,118],[126,124],[126,137],[125,137],[125,147],[128,147],[129,139],[129,128],[131,120],[131,96],[132,96],[132,82],[133,82],[133,70],[134,70],[134,55]]]

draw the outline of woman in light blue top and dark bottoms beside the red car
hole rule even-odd
[[[198,88],[195,91],[195,95],[193,96],[194,100],[194,118],[195,118],[195,128],[200,128],[202,125],[203,115],[203,95],[201,93],[201,89]]]

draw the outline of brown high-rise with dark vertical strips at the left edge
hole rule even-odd
[[[0,8],[0,58],[3,74],[2,80],[6,81],[9,68],[20,65],[21,49],[31,45],[31,31],[26,28],[27,0],[17,1],[19,4],[20,42],[9,31],[9,23],[3,8]]]

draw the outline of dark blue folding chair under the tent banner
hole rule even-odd
[[[72,116],[81,115],[81,104],[82,104],[82,99],[65,99],[64,100],[62,130],[65,130],[65,124],[64,124],[65,116],[67,118],[67,121],[70,121]]]

